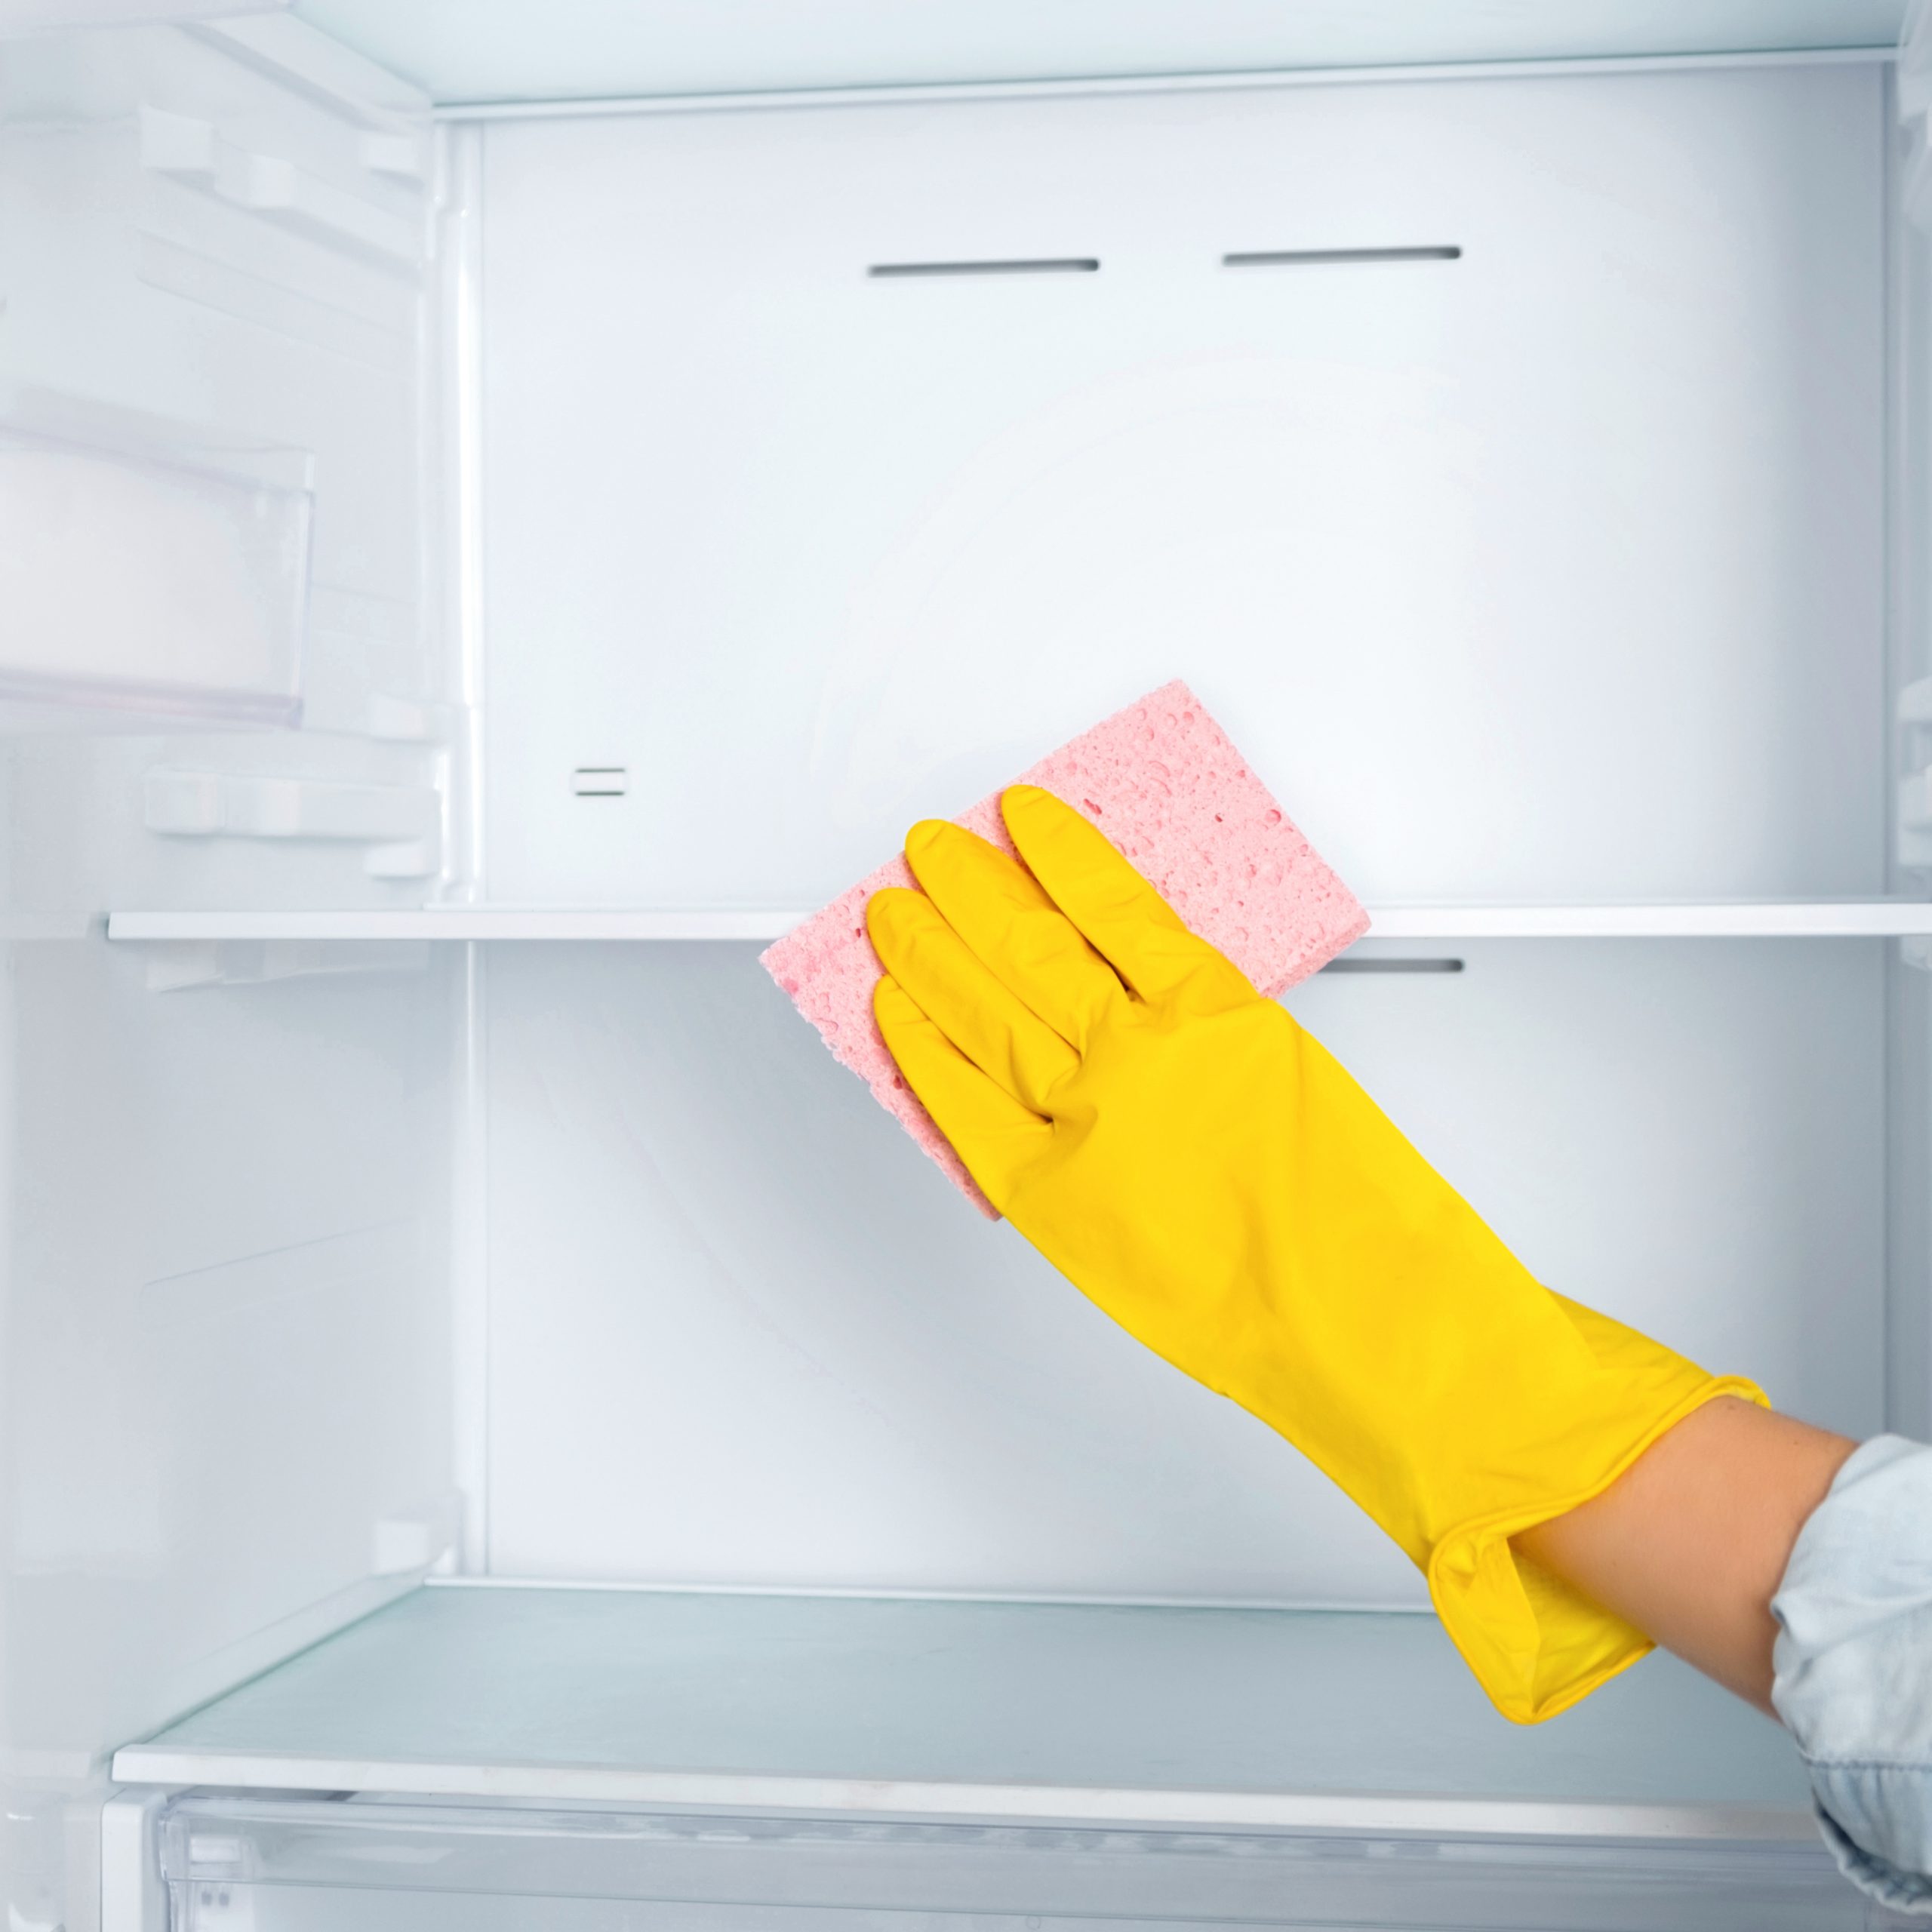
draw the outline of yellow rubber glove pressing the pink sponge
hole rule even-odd
[[[1076,811],[1005,794],[885,891],[879,1030],[995,1208],[1115,1321],[1289,1437],[1430,1584],[1505,1718],[1648,1648],[1509,1538],[1716,1395],[1544,1289],[1381,1109]]]

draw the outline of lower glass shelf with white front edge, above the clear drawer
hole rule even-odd
[[[1499,1718],[1430,1615],[427,1584],[120,1783],[1511,1837],[1814,1837],[1789,1741],[1669,1658]]]

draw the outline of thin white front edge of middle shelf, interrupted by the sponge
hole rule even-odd
[[[427,906],[404,912],[110,912],[108,939],[777,939],[804,910]],[[1654,906],[1379,906],[1370,939],[1907,939],[1932,902],[1714,900]]]

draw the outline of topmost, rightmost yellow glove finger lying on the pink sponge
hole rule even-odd
[[[1180,914],[1072,806],[1037,784],[1012,784],[999,810],[1053,904],[1142,999],[1167,999],[1188,983],[1215,1005],[1256,997],[1240,968],[1190,933]]]

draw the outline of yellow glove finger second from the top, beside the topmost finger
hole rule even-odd
[[[1026,867],[945,819],[906,833],[906,860],[993,976],[1084,1051],[1101,1014],[1122,997],[1121,981]]]

